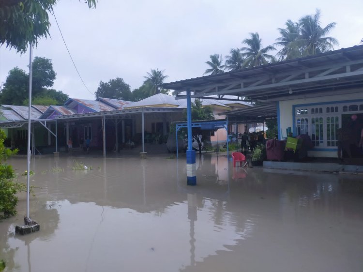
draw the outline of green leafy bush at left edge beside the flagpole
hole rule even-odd
[[[4,146],[5,134],[0,130],[0,218],[9,217],[16,214],[18,191],[24,189],[23,184],[14,182],[15,173],[12,166],[5,162],[17,150],[11,151]]]

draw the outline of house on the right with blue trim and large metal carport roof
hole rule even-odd
[[[179,98],[189,90],[192,98],[223,100],[234,95],[236,101],[258,101],[256,107],[226,113],[229,122],[276,118],[279,139],[287,131],[307,134],[314,143],[309,156],[337,157],[338,129],[352,130],[357,142],[363,128],[363,45],[163,87]]]

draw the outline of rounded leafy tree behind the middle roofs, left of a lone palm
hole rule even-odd
[[[108,82],[100,81],[95,95],[96,98],[104,97],[128,101],[132,99],[130,85],[126,84],[120,77],[110,79]]]

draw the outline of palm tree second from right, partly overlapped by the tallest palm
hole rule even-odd
[[[278,29],[281,37],[276,39],[274,45],[282,46],[283,48],[277,52],[279,61],[290,60],[302,56],[302,50],[297,45],[296,41],[300,38],[299,23],[287,20],[286,29]]]

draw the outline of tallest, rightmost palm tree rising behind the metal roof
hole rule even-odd
[[[296,41],[302,47],[302,55],[309,56],[332,50],[334,45],[339,45],[338,40],[332,37],[325,37],[336,23],[330,23],[321,28],[320,10],[315,15],[306,15],[299,20],[301,35]]]

